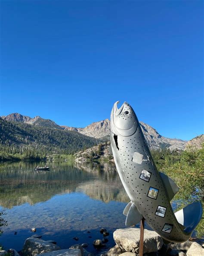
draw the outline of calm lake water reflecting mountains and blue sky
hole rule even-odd
[[[112,232],[124,227],[122,212],[129,202],[114,164],[50,162],[50,171],[34,172],[37,165],[45,163],[3,163],[0,211],[6,210],[8,226],[0,243],[21,250],[36,227],[37,234],[56,240],[62,249],[79,237],[77,243],[89,243],[87,250],[96,253],[92,242],[102,238],[99,229],[105,227],[110,231],[107,248],[113,246]]]

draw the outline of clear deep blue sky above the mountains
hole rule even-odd
[[[165,137],[203,133],[202,1],[0,4],[0,115],[84,127],[120,100]]]

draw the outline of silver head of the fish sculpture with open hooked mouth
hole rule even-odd
[[[117,104],[114,103],[111,111],[111,132],[115,135],[131,136],[138,127],[138,120],[133,108],[127,102],[124,102],[118,109]]]

